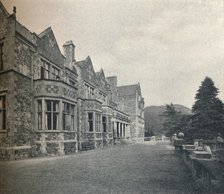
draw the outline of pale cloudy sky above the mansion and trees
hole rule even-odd
[[[51,26],[59,47],[118,85],[140,83],[145,106],[189,108],[206,76],[224,100],[224,0],[2,0],[31,32]]]

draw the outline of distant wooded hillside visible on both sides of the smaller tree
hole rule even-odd
[[[175,104],[174,107],[182,114],[191,114],[191,109],[183,105]],[[162,132],[163,122],[165,121],[162,113],[165,106],[148,106],[145,108],[145,129],[153,131],[156,135]]]

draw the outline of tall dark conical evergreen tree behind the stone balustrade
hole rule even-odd
[[[224,105],[217,97],[218,89],[211,78],[202,81],[192,107],[192,138],[212,139],[224,135]]]

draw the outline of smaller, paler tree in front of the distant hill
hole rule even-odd
[[[179,123],[182,115],[179,111],[175,109],[172,103],[170,105],[166,104],[163,116],[165,117],[165,122],[163,123],[163,130],[167,131],[167,136],[171,136],[172,134],[181,130]]]

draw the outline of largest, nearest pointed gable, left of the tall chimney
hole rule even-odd
[[[38,37],[38,52],[56,65],[62,66],[64,63],[64,56],[61,54],[51,27],[40,33]]]

